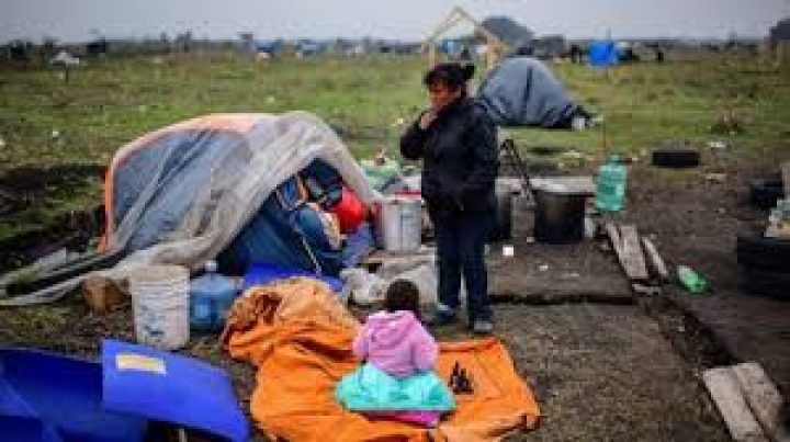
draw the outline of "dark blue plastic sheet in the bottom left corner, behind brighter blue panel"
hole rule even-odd
[[[147,427],[145,418],[103,407],[101,365],[0,349],[0,440],[136,442]]]

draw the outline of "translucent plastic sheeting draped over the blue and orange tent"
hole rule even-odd
[[[224,250],[269,195],[314,160],[370,205],[379,194],[335,132],[306,112],[217,114],[162,128],[119,150],[105,181],[105,249],[138,264],[195,268]]]

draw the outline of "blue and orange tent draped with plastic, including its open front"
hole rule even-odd
[[[329,243],[326,214],[305,204],[303,174],[342,181],[365,203],[376,199],[335,132],[308,113],[211,115],[154,132],[112,160],[104,247],[129,253],[121,268],[194,268],[225,250],[238,267],[323,272],[339,262],[339,246]]]

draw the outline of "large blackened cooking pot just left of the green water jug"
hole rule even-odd
[[[534,196],[537,241],[561,245],[584,239],[586,195],[535,189]]]

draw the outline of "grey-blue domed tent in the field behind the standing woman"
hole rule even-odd
[[[549,67],[531,57],[499,64],[481,83],[477,100],[498,126],[557,127],[579,107]]]

